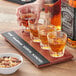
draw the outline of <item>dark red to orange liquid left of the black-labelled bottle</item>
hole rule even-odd
[[[61,30],[61,0],[53,4],[45,4],[44,8],[45,11],[48,9],[50,12],[51,24],[55,25],[58,30]]]

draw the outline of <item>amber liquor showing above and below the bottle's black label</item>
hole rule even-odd
[[[76,0],[69,0],[69,5],[71,7],[76,8]],[[68,45],[73,47],[73,48],[76,48],[76,41],[73,41],[70,38],[68,38]]]

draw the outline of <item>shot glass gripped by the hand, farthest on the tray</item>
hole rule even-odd
[[[33,13],[34,8],[30,7],[30,10],[28,8],[25,8],[26,11],[19,10],[20,20],[21,20],[21,26],[23,31],[29,32],[29,23],[28,21],[33,24],[36,20],[36,15]]]

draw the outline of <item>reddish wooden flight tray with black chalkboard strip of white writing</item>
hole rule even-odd
[[[48,50],[42,50],[39,43],[32,42],[29,33],[22,33],[22,30],[5,32],[2,35],[38,68],[65,62],[73,58],[68,49],[65,50],[63,57],[51,57]]]

